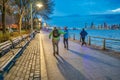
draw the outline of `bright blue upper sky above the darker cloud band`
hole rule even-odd
[[[54,0],[53,16],[118,14],[120,0]]]

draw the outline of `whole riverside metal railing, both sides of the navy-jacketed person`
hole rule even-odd
[[[69,38],[72,38],[73,40],[80,40],[81,42],[80,35],[77,36],[75,33],[70,33]],[[86,42],[88,43],[88,45],[99,46],[103,50],[109,49],[120,52],[120,39],[88,36],[86,37]]]

